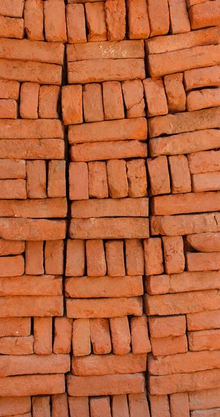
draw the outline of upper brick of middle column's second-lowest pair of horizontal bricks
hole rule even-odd
[[[66,279],[65,291],[72,298],[133,297],[143,294],[142,277],[72,277]]]

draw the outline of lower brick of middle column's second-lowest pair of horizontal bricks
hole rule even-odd
[[[92,300],[67,298],[67,317],[69,318],[122,318],[131,314],[142,315],[142,299],[140,297]]]

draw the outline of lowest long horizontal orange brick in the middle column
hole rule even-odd
[[[142,393],[144,391],[144,376],[142,373],[92,377],[67,375],[67,391],[69,395],[76,397],[81,397],[82,395]]]

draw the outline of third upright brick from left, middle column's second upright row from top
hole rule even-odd
[[[123,119],[124,103],[119,81],[106,81],[102,84],[105,120]]]

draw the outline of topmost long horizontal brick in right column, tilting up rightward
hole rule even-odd
[[[177,35],[157,36],[156,38],[146,40],[146,52],[147,54],[164,54],[164,52],[212,45],[214,44],[214,39],[218,38],[218,36],[218,27],[178,33]]]

